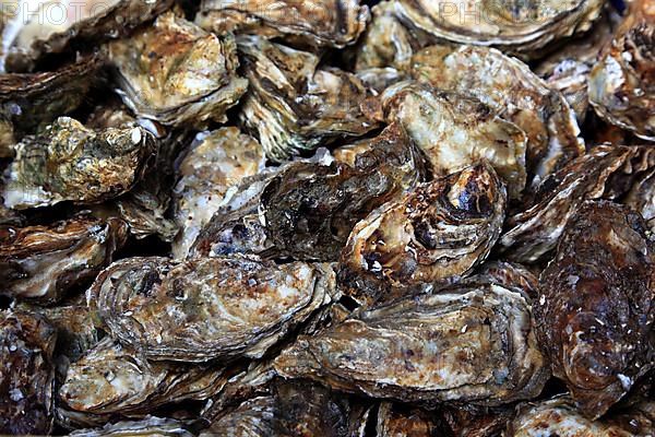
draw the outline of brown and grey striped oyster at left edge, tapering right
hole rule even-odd
[[[48,226],[0,227],[0,294],[51,303],[87,285],[127,238],[124,222],[79,216]]]

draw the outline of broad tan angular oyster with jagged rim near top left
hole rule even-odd
[[[246,92],[234,38],[222,38],[167,12],[129,38],[109,44],[119,94],[138,116],[204,128]]]

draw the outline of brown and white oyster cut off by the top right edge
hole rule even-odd
[[[655,141],[655,11],[651,0],[630,13],[588,79],[590,103],[607,121]]]

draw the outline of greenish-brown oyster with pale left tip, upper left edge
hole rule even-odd
[[[154,138],[143,128],[94,131],[60,117],[16,146],[4,204],[20,210],[117,197],[142,178],[154,151]]]

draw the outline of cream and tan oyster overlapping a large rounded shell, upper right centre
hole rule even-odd
[[[370,105],[371,117],[405,127],[436,175],[486,158],[504,179],[510,198],[525,188],[525,133],[479,101],[406,81],[390,86]]]

